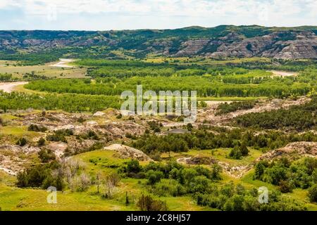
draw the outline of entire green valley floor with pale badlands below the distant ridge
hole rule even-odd
[[[28,82],[0,91],[0,209],[317,210],[316,61],[101,52],[0,53],[16,60],[0,81]],[[75,68],[46,70],[62,56]],[[137,85],[197,91],[199,120],[121,114]],[[46,204],[49,186],[63,204]]]

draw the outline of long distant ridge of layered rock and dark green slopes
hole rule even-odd
[[[221,26],[220,26],[221,27]],[[0,50],[37,52],[80,47],[129,51],[136,57],[207,56],[317,58],[317,27],[192,27],[178,30],[125,31],[0,31]],[[108,50],[107,50],[108,49]]]

